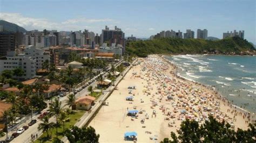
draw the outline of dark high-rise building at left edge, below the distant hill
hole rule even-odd
[[[0,56],[6,56],[7,51],[15,51],[14,32],[0,32]]]

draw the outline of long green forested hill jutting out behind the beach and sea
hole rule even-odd
[[[252,54],[254,47],[239,37],[221,40],[160,38],[127,42],[126,52],[145,57],[149,54]],[[250,53],[246,52],[250,51]],[[241,53],[242,52],[242,53]]]

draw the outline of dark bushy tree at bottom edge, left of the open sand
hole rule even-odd
[[[64,135],[69,142],[99,142],[99,134],[92,126],[79,128],[72,126],[71,130],[65,130]]]

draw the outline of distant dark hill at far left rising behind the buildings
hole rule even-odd
[[[26,32],[26,30],[21,27],[21,26],[18,26],[17,24],[14,24],[14,23],[9,23],[9,22],[6,22],[5,20],[0,20],[0,25],[3,26],[3,31],[11,31],[11,32]]]

